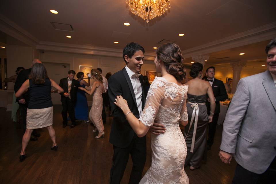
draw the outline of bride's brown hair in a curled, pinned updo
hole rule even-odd
[[[156,50],[157,59],[164,63],[166,71],[173,75],[177,81],[186,78],[186,70],[182,65],[183,57],[181,50],[175,43],[166,43]]]

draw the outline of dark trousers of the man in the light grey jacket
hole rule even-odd
[[[276,183],[276,160],[262,174],[252,173],[237,164],[232,184],[274,184]]]

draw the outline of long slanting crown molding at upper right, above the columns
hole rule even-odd
[[[186,49],[182,51],[182,55],[185,58],[192,57],[193,55],[205,55],[212,52],[217,52],[225,49],[231,49],[240,47],[252,43],[257,43],[276,37],[276,22],[266,24],[254,29],[250,29],[238,34],[234,34],[223,39],[212,41],[198,47]]]

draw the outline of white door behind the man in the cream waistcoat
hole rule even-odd
[[[47,70],[48,77],[54,80],[57,84],[60,83],[60,79],[68,76],[68,71],[70,70],[70,64],[49,63],[49,62],[43,62],[43,64]],[[55,88],[52,87],[52,90],[55,90]],[[61,105],[60,94],[51,93],[51,97],[52,97],[53,105]]]

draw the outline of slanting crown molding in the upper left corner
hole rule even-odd
[[[3,14],[0,14],[0,30],[31,47],[35,47],[40,42],[39,39],[5,17]]]

